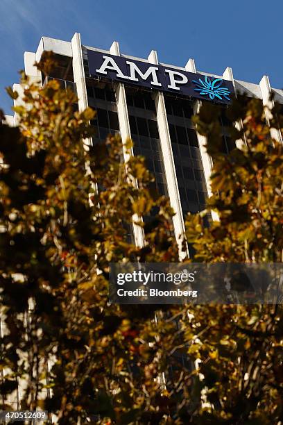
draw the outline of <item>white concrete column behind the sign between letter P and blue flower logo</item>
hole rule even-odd
[[[185,66],[185,69],[187,72],[194,72],[196,74],[196,64],[194,59],[189,59],[187,61],[187,65]],[[196,101],[196,112],[198,113],[200,110],[201,101]],[[203,162],[203,172],[205,174],[205,184],[207,187],[207,195],[208,197],[212,196],[212,190],[211,190],[211,184],[210,184],[210,177],[212,174],[212,158],[207,153],[205,144],[207,142],[207,138],[204,135],[201,135],[200,133],[196,132],[196,135],[198,137],[198,145],[200,147],[200,156],[201,160]],[[218,214],[214,211],[212,211],[212,219],[218,220]]]

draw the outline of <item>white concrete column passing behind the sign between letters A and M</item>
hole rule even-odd
[[[112,46],[110,47],[110,53],[115,56],[120,56],[120,49],[119,49],[119,43],[113,42]],[[130,134],[130,122],[129,122],[129,116],[128,116],[128,106],[126,101],[126,91],[125,86],[123,83],[117,83],[115,85],[115,94],[116,94],[116,101],[117,101],[117,114],[119,119],[119,128],[121,133],[121,139],[124,142],[126,142],[127,139],[131,138]],[[128,162],[130,159],[130,156],[133,155],[133,151],[131,148],[130,155],[126,152],[126,147],[123,146],[123,158],[125,163]],[[135,182],[135,185],[137,187],[137,181]],[[135,222],[139,221],[139,217],[135,214],[132,216],[132,227],[134,232],[134,238],[135,238],[135,244],[137,247],[143,247],[144,246],[144,230],[135,224]]]

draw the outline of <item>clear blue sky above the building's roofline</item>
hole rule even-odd
[[[283,88],[280,0],[0,0],[0,107],[10,113],[4,88],[18,81],[24,51],[35,51],[42,35],[259,83],[267,74]]]

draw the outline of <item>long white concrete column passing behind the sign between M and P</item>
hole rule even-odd
[[[157,52],[152,50],[148,56],[148,62],[158,65]],[[175,238],[178,243],[180,259],[189,256],[189,250],[187,253],[182,251],[182,240],[180,236],[185,233],[185,224],[182,215],[182,206],[180,201],[180,194],[178,189],[177,175],[175,172],[175,163],[173,157],[173,151],[171,146],[171,138],[169,133],[169,125],[167,121],[167,114],[165,108],[164,94],[162,92],[156,92],[155,94],[155,107],[157,115],[157,126],[160,135],[160,144],[162,149],[162,157],[164,162],[167,190],[169,194],[169,200],[171,207],[175,211],[173,216],[173,228]]]

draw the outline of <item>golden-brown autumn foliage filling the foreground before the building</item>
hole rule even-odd
[[[51,57],[38,66],[48,74]],[[144,158],[123,162],[119,137],[85,145],[94,111],[78,113],[73,92],[22,78],[19,128],[0,126],[2,408],[19,378],[21,407],[60,424],[279,424],[281,306],[109,304],[110,261],[178,261],[173,210]],[[207,211],[187,217],[194,260],[282,261],[282,146],[260,103],[238,97],[227,114],[244,127],[230,133],[246,144],[219,154],[218,112],[207,103],[196,117],[214,173]],[[279,106],[273,116],[282,127]]]

